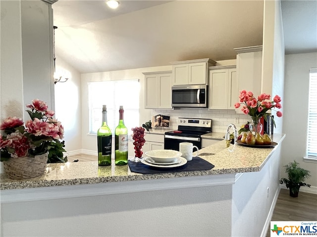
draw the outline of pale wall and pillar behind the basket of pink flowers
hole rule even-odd
[[[36,98],[54,110],[51,4],[40,0],[0,4],[1,119],[23,114],[29,119],[25,104]]]

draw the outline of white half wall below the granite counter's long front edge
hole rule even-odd
[[[231,187],[2,203],[1,236],[228,237]]]

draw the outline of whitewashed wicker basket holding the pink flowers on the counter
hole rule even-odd
[[[10,179],[27,179],[42,175],[47,162],[48,153],[35,157],[9,158],[3,161],[3,168]]]

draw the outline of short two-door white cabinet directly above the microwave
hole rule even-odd
[[[173,62],[172,85],[208,84],[208,67],[214,66],[215,61],[205,58]]]

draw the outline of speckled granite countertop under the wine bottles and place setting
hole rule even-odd
[[[284,134],[274,134],[272,140],[279,144],[284,137]],[[262,169],[275,148],[250,148],[240,145],[225,148],[225,141],[222,140],[199,151],[199,157],[214,165],[211,170],[159,174],[134,173],[128,165],[117,166],[114,162],[111,166],[98,166],[97,161],[53,163],[48,164],[45,174],[36,178],[9,179],[5,174],[1,174],[0,190],[257,172]]]

